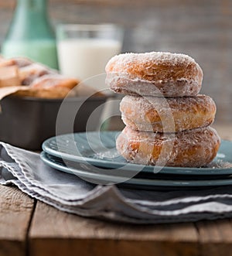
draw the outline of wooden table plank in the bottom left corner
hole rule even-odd
[[[34,200],[15,187],[0,186],[0,255],[26,254]]]

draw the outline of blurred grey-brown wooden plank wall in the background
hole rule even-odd
[[[0,44],[14,0],[0,0]],[[123,52],[187,53],[203,68],[203,94],[217,102],[217,121],[232,121],[231,0],[50,0],[59,22],[116,22],[125,26]]]

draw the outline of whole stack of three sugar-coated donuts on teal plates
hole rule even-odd
[[[128,162],[181,167],[206,166],[220,137],[210,127],[212,98],[200,95],[203,71],[185,54],[125,53],[106,66],[106,84],[126,94],[120,110],[126,127],[118,152]]]

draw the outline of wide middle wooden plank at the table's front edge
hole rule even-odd
[[[38,202],[29,231],[31,256],[198,255],[193,224],[112,224],[63,213]]]

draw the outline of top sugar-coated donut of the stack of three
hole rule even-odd
[[[116,93],[193,97],[199,94],[203,71],[192,57],[180,53],[125,53],[106,65],[106,84]]]

